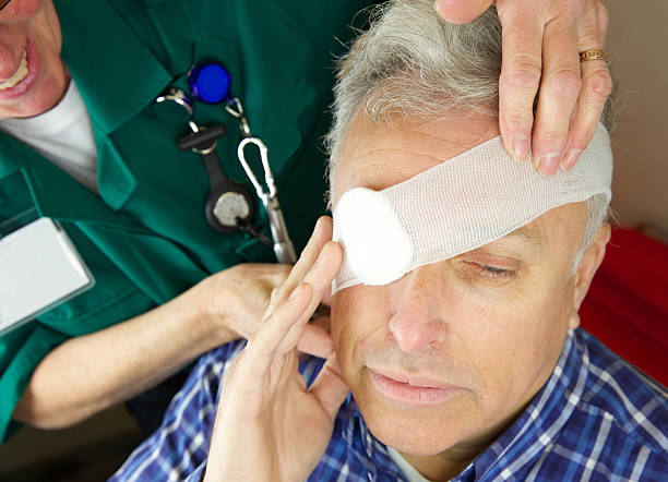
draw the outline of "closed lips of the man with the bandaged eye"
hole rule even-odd
[[[373,386],[384,397],[402,403],[430,406],[445,401],[463,388],[425,376],[368,369]]]

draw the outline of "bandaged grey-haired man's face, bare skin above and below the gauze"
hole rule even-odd
[[[334,172],[334,205],[384,189],[498,135],[491,118],[383,126],[358,117]],[[585,203],[387,286],[336,293],[332,334],[372,433],[401,451],[485,447],[550,376],[569,325]],[[586,291],[586,288],[584,288]]]

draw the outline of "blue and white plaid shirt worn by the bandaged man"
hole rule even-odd
[[[111,481],[200,481],[225,370],[244,342],[204,354],[162,427]],[[307,358],[311,383],[322,360]],[[310,481],[402,481],[351,396]],[[557,366],[530,405],[454,481],[668,480],[668,397],[591,335],[570,332]]]

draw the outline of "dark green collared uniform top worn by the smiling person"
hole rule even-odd
[[[269,147],[296,249],[325,213],[325,155],[333,59],[353,37],[360,1],[61,0],[62,57],[88,108],[99,196],[16,140],[0,134],[0,224],[36,208],[60,220],[96,279],[91,290],[0,338],[0,439],[44,357],[71,337],[144,313],[246,262],[275,262],[246,233],[204,217],[208,178],[181,152],[187,125],[160,121],[153,99],[184,85],[201,60],[223,62],[253,135]],[[361,17],[363,15],[359,15]],[[229,178],[254,192],[237,160],[241,133],[222,106],[196,103],[200,125],[224,123],[217,154]],[[252,150],[252,149],[248,149]],[[260,203],[254,222],[270,234]]]

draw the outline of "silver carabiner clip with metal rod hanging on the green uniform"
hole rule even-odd
[[[262,159],[262,168],[264,169],[264,180],[266,182],[267,192],[264,191],[262,184],[258,181],[255,173],[249,166],[243,154],[243,149],[248,144],[253,144],[260,149],[260,158]],[[274,240],[274,253],[278,263],[294,264],[297,262],[297,253],[295,246],[287,231],[287,225],[283,210],[278,204],[278,192],[276,190],[276,183],[274,181],[274,174],[269,164],[269,149],[266,145],[258,137],[244,137],[237,147],[237,155],[239,156],[239,162],[246,171],[246,176],[250,179],[251,183],[255,188],[258,197],[262,200],[266,216],[270,220],[270,228],[272,229],[272,238]]]

